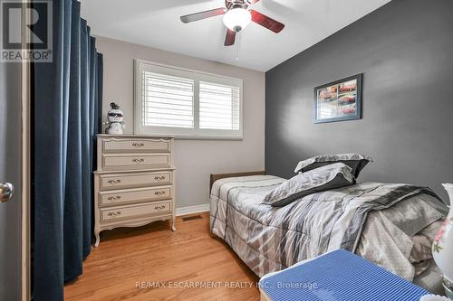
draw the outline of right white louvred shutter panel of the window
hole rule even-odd
[[[239,130],[239,87],[200,81],[199,127]]]

